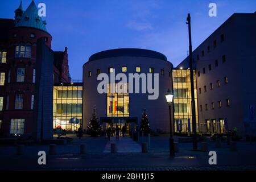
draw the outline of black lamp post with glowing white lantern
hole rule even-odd
[[[169,144],[170,144],[170,155],[174,156],[174,138],[172,138],[172,117],[171,117],[171,105],[172,105],[172,100],[174,98],[174,95],[171,93],[170,89],[167,90],[166,93],[166,102],[169,106],[169,117],[170,117],[170,140],[169,140]]]

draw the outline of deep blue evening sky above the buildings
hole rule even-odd
[[[26,9],[31,0],[23,0]],[[68,47],[69,72],[82,79],[82,65],[93,53],[113,48],[159,51],[174,66],[188,51],[187,13],[192,16],[193,49],[233,13],[254,13],[255,0],[35,0],[46,3],[52,49]],[[217,4],[217,17],[208,5]],[[14,18],[19,0],[0,0],[0,18]]]

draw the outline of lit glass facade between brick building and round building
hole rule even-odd
[[[82,83],[53,87],[53,129],[67,133],[77,131],[82,124]]]

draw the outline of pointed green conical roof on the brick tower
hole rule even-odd
[[[22,6],[20,7],[22,8]],[[34,1],[32,1],[30,6],[27,7],[27,10],[23,13],[19,22],[15,24],[15,27],[32,27],[47,32],[46,22],[38,15],[38,9]]]

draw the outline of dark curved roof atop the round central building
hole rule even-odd
[[[151,57],[167,61],[167,57],[160,52],[138,48],[120,48],[101,51],[90,56],[89,61],[119,56]]]

